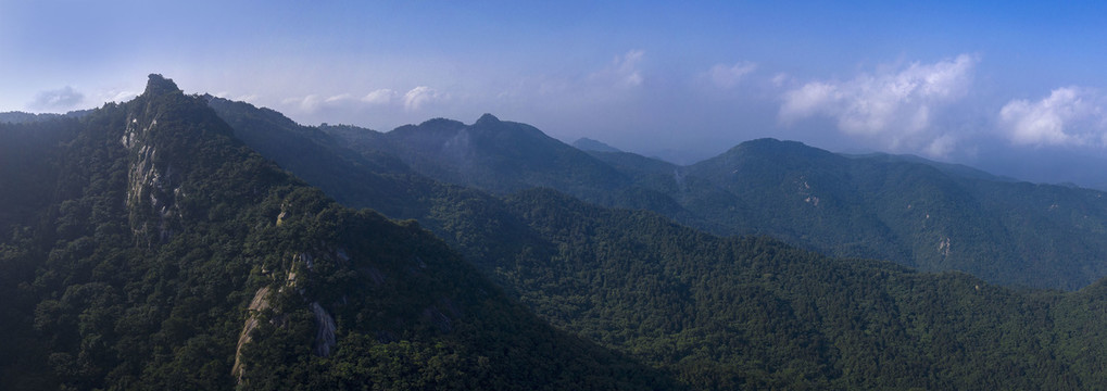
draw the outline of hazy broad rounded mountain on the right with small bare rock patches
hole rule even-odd
[[[1107,258],[1100,192],[850,158],[775,140],[743,143],[687,167],[687,175],[735,195],[754,215],[718,214],[726,204],[690,210],[831,255],[1069,290],[1107,276],[1098,261]]]

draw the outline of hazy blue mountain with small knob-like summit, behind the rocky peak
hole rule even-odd
[[[534,126],[492,114],[472,125],[435,119],[387,133],[323,126],[354,151],[390,155],[428,178],[494,194],[549,187],[601,205],[691,218],[673,199]]]

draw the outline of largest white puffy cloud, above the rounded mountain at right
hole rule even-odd
[[[784,93],[779,117],[792,123],[826,116],[840,131],[880,140],[884,147],[948,152],[954,138],[930,126],[943,105],[968,92],[976,62],[962,54],[849,81],[813,81]]]

